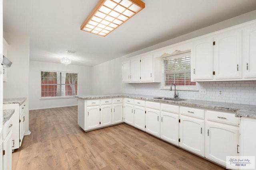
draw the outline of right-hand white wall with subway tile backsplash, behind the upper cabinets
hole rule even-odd
[[[162,87],[161,83],[139,83],[139,84],[128,84],[122,83],[122,61],[124,61],[128,57],[132,57],[134,55],[139,55],[142,53],[146,53],[148,51],[156,50],[162,47],[166,47],[168,45],[172,45],[175,43],[179,43],[188,39],[192,39],[195,37],[199,37],[201,35],[205,35],[207,33],[212,33],[214,31],[218,31],[227,27],[231,27],[234,25],[238,25],[240,23],[244,23],[247,21],[256,20],[256,10],[252,12],[248,12],[246,14],[242,14],[240,16],[231,18],[226,21],[222,21],[220,23],[216,23],[214,25],[210,25],[208,27],[199,29],[197,31],[193,31],[191,33],[182,35],[180,37],[176,37],[174,39],[170,39],[168,41],[164,41],[162,43],[153,45],[151,47],[147,47],[140,51],[136,51],[134,53],[130,53],[128,55],[119,57],[112,61],[108,61],[106,63],[102,63],[93,67],[93,75],[101,75],[109,70],[115,70],[112,73],[113,78],[109,79],[109,76],[102,76],[100,81],[104,82],[99,84],[98,79],[93,79],[93,92],[95,93],[119,93],[120,89],[122,89],[123,93],[132,93],[132,94],[149,94],[155,96],[173,96],[173,92],[169,90],[160,90]],[[114,63],[114,67],[113,67]],[[113,82],[114,81],[114,82]],[[233,82],[201,82],[198,83],[198,89],[206,89],[206,95],[200,95],[199,92],[193,91],[179,91],[180,96],[182,98],[188,99],[196,99],[196,100],[207,100],[207,101],[219,101],[219,102],[228,102],[228,103],[238,103],[238,104],[253,104],[256,105],[256,100],[254,100],[254,96],[256,96],[254,81],[233,81]],[[240,87],[239,87],[240,86]],[[218,90],[223,90],[223,96],[218,96]],[[250,93],[250,97],[248,98],[248,93]],[[252,95],[253,94],[253,95]]]

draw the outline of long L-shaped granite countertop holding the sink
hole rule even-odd
[[[147,100],[153,102],[162,102],[167,104],[177,104],[183,106],[192,106],[192,107],[202,107],[206,109],[217,109],[222,111],[232,111],[235,113],[236,117],[250,117],[256,118],[256,106],[246,105],[246,104],[232,104],[224,102],[212,102],[212,101],[203,101],[203,100],[182,100],[182,101],[172,101],[172,100],[162,100],[154,99],[160,96],[147,96],[147,95],[138,95],[138,94],[104,94],[104,95],[76,95],[76,98],[82,100],[88,99],[103,99],[103,98],[134,98],[140,100]]]

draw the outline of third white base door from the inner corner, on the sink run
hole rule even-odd
[[[160,110],[146,108],[146,132],[160,137]]]

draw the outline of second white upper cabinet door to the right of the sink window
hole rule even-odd
[[[241,30],[234,30],[214,37],[215,79],[241,78],[241,34]]]

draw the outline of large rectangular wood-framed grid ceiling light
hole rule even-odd
[[[105,37],[144,8],[140,0],[100,0],[80,29]]]

